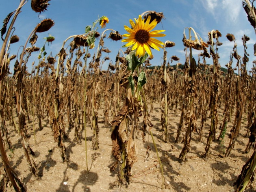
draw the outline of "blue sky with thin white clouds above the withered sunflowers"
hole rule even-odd
[[[0,20],[3,21],[10,12],[17,9],[19,2],[19,0],[2,1],[0,6]],[[255,32],[247,20],[247,15],[242,6],[242,0],[51,0],[49,3],[48,11],[40,15],[31,9],[30,1],[24,5],[22,13],[18,15],[15,22],[16,30],[14,35],[18,35],[20,41],[11,45],[11,50],[9,51],[11,54],[17,54],[18,48],[24,45],[30,32],[45,18],[53,19],[55,24],[48,32],[37,34],[38,40],[36,46],[42,47],[45,41],[43,37],[47,37],[48,33],[50,33],[56,39],[49,46],[46,45],[46,52],[48,54],[52,52],[53,56],[55,56],[67,37],[83,34],[85,32],[85,26],[91,25],[92,22],[98,19],[98,16],[106,15],[109,18],[106,28],[112,28],[124,34],[126,33],[124,25],[130,26],[129,19],[134,20],[134,18],[137,18],[144,11],[156,11],[163,12],[165,16],[165,19],[154,28],[154,30],[166,30],[164,32],[166,36],[159,37],[158,39],[163,42],[169,40],[176,43],[176,46],[167,49],[167,59],[172,55],[176,55],[180,58],[180,63],[184,64],[185,52],[182,38],[185,27],[193,27],[204,41],[207,41],[209,31],[215,29],[221,32],[222,37],[220,37],[219,41],[223,45],[219,47],[219,63],[222,67],[225,67],[228,63],[230,51],[232,51],[234,46],[234,43],[226,39],[227,33],[235,35],[238,51],[241,56],[243,56],[241,37],[243,34],[250,37],[250,41],[247,42],[248,53],[250,54],[248,70],[252,67],[252,61],[256,59],[253,56],[253,45],[256,42]],[[98,32],[102,32],[104,29],[99,28]],[[106,32],[107,37],[108,34],[109,32]],[[67,42],[66,47],[70,41]],[[111,50],[111,53],[106,55],[115,62],[115,56],[124,44],[121,41],[115,42],[105,38],[104,46]],[[2,43],[0,43],[1,45]],[[98,41],[96,41],[96,47],[97,45]],[[122,49],[126,50],[125,48]],[[91,55],[94,52],[95,49],[90,50]],[[193,51],[195,60],[197,60],[198,53],[196,50]],[[160,52],[152,50],[152,54],[154,55],[154,59],[151,63],[153,65],[161,65],[163,63],[163,50],[160,50]],[[31,69],[31,63],[33,61],[37,65],[37,56],[38,53],[35,53],[30,57],[29,63],[27,64],[28,69]],[[207,62],[212,64],[212,59],[207,60]],[[11,69],[13,68],[13,63],[11,63]],[[173,64],[176,63],[174,62]],[[234,67],[235,64],[232,66]],[[106,69],[107,67],[108,62],[106,61],[102,65],[102,69]]]

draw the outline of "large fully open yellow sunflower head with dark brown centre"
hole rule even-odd
[[[129,34],[124,34],[124,37],[127,37],[127,39],[123,39],[122,42],[128,42],[125,46],[130,47],[132,46],[132,50],[136,50],[136,56],[144,56],[145,52],[147,52],[150,57],[152,57],[152,52],[150,50],[150,47],[160,51],[159,47],[162,48],[162,45],[164,45],[163,42],[155,39],[154,37],[164,37],[165,34],[162,34],[160,32],[164,32],[165,30],[154,30],[151,31],[157,24],[156,19],[150,23],[150,16],[148,17],[147,21],[145,22],[145,19],[141,18],[141,15],[139,15],[139,19],[135,19],[135,23],[130,19],[130,24],[132,28],[129,28],[128,26],[124,26],[124,29]],[[150,32],[151,31],[151,32]]]

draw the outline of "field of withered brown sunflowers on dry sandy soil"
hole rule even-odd
[[[163,13],[136,15],[126,34],[105,29],[110,19],[102,15],[85,33],[63,39],[53,56],[53,35],[36,46],[39,33],[55,24],[43,19],[11,55],[23,6],[41,14],[49,1],[20,0],[3,19],[1,192],[256,191],[256,61],[248,70],[247,35],[240,53],[240,37],[210,30],[204,41],[186,27],[180,63],[167,57],[175,43],[161,40]],[[253,2],[242,2],[256,32]],[[219,63],[222,36],[234,44],[226,70]],[[104,56],[111,52],[106,37],[120,42],[115,58]],[[163,60],[152,65],[156,51]]]

